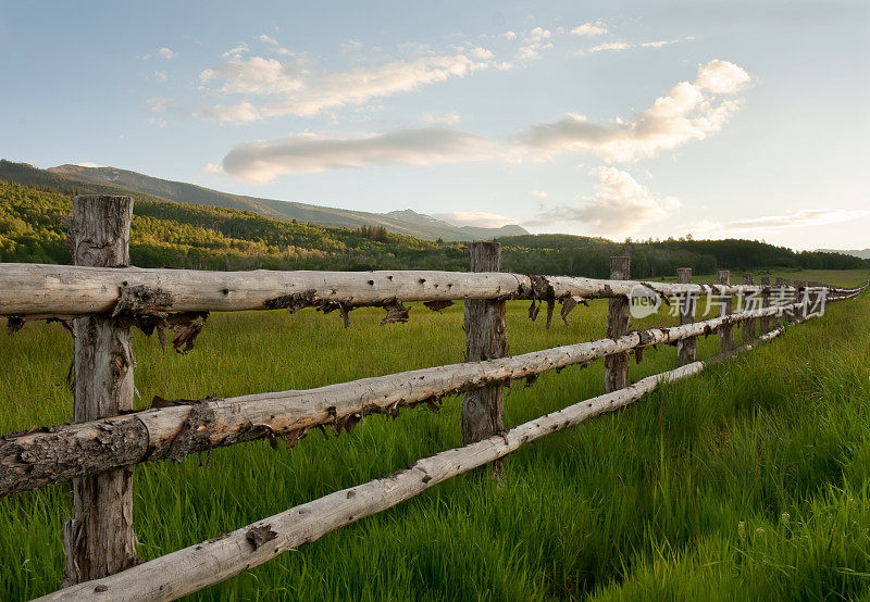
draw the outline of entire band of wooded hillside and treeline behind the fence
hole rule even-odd
[[[72,200],[46,187],[0,180],[0,261],[69,263],[65,216]],[[468,268],[465,246],[397,235],[383,227],[334,228],[284,222],[250,211],[137,198],[130,258],[140,267],[200,269],[453,269]],[[609,258],[626,243],[569,235],[500,239],[505,269],[607,277]],[[841,269],[870,260],[801,252],[750,240],[631,242],[632,275],[671,276],[717,268]]]

